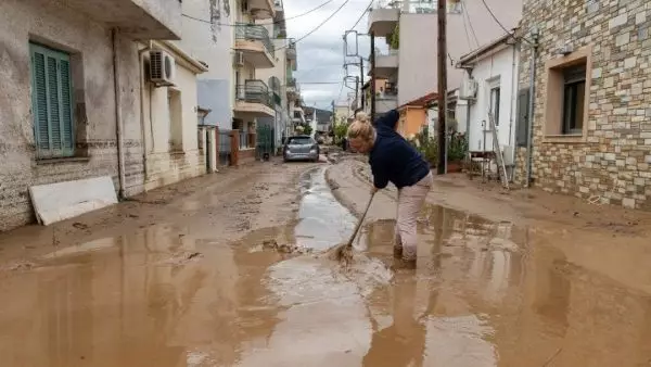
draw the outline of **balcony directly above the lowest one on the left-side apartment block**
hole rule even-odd
[[[276,65],[273,43],[269,31],[261,25],[235,25],[235,50],[242,52],[244,62],[255,68],[271,68]]]

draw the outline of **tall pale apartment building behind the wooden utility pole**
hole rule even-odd
[[[514,28],[522,14],[522,0],[486,0],[486,4],[483,1],[446,1],[447,47],[451,65],[463,54],[503,36],[502,27]],[[499,9],[500,24],[495,22],[486,7]],[[388,45],[387,51],[375,50],[374,68],[369,75],[386,79],[397,89],[395,101],[399,109],[436,91],[436,8],[435,1],[378,1],[369,14],[369,33],[375,38],[384,38]],[[430,41],[421,41],[422,35],[429,35]],[[448,86],[459,86],[463,74],[462,69],[448,66]],[[381,111],[387,101],[376,103],[375,110]],[[426,123],[425,118],[422,121]]]

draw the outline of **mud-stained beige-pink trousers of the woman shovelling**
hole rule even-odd
[[[433,182],[434,177],[430,173],[416,185],[406,186],[398,190],[395,245],[403,249],[404,260],[416,260],[418,245],[417,219]]]

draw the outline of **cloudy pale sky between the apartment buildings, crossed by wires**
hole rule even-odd
[[[291,18],[317,8],[327,0],[283,0],[288,26],[288,37],[301,38],[308,34],[328,16],[330,16],[345,0],[333,0],[323,8],[308,15]],[[298,52],[298,71],[295,77],[301,85],[301,93],[309,106],[330,109],[332,100],[345,101],[352,89],[343,88],[341,84],[312,85],[310,81],[342,81],[344,78],[344,33],[349,29],[369,5],[370,0],[349,0],[348,3],[323,24],[317,31],[296,45]],[[367,15],[359,22],[356,30],[367,31]],[[368,37],[360,37],[362,55],[368,58]],[[366,67],[366,66],[365,66]],[[349,73],[359,75],[359,69],[349,67]],[[366,74],[366,73],[365,73]],[[349,85],[353,86],[354,81]],[[341,94],[340,94],[340,90]],[[341,96],[341,97],[340,97]]]

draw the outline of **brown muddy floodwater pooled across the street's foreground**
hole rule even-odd
[[[301,186],[296,223],[234,243],[158,224],[4,271],[0,366],[651,365],[649,294],[535,229],[430,206],[416,271],[388,270],[393,220],[342,268],[319,252],[356,218],[322,168]]]

